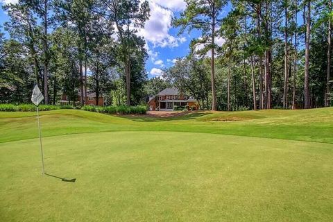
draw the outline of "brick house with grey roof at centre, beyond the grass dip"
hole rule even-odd
[[[195,109],[198,110],[196,100],[191,96],[182,94],[177,88],[163,89],[148,101],[149,110],[151,111],[172,111],[175,106],[185,108],[186,105],[189,108],[195,106]]]

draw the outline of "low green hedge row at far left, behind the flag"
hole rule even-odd
[[[40,105],[40,111],[47,110],[60,110],[60,109],[73,109],[74,107],[71,105]],[[36,107],[33,104],[0,104],[0,111],[2,112],[28,112],[35,111]]]

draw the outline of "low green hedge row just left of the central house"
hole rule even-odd
[[[147,108],[144,105],[126,106],[126,105],[110,105],[110,106],[93,106],[85,105],[81,110],[90,112],[101,112],[108,114],[146,114]]]

